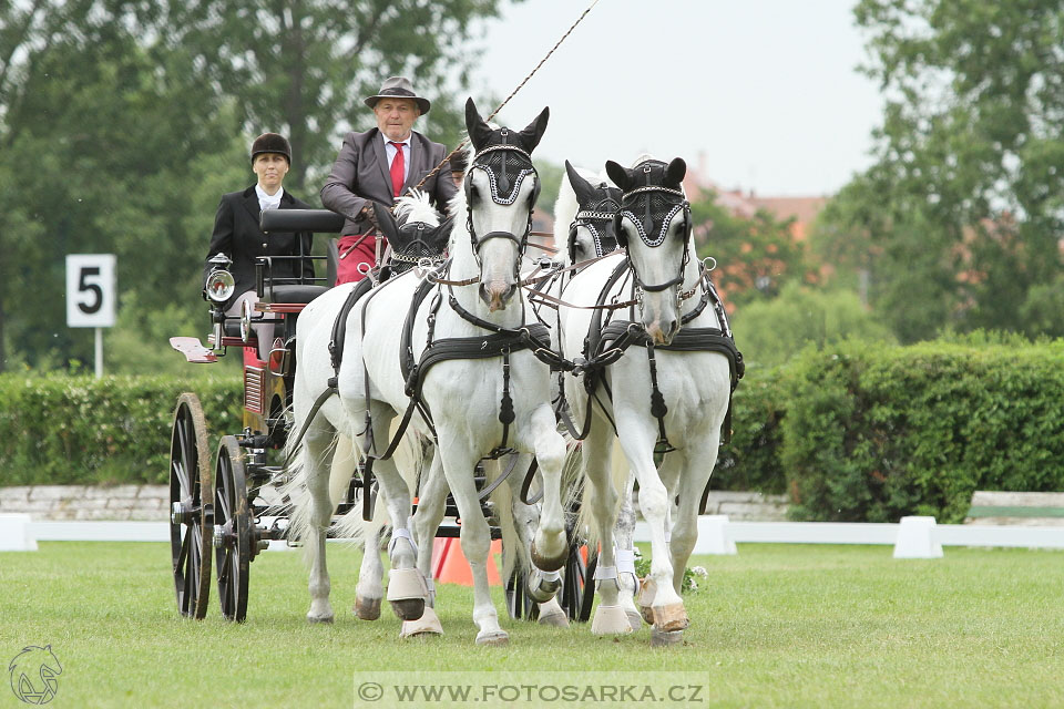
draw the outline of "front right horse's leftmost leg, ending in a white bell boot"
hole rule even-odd
[[[598,530],[598,565],[595,569],[595,593],[601,600],[592,618],[591,631],[595,635],[632,633],[624,608],[618,603],[621,582],[614,546],[613,526],[616,521],[617,491],[612,474],[613,432],[602,422],[592,427],[584,440],[584,484],[587,485],[584,502],[590,502],[591,513]]]

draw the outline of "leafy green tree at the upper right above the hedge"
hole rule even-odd
[[[887,107],[876,163],[826,210],[818,251],[870,274],[906,341],[944,326],[1060,335],[1064,6],[861,0],[855,16]]]

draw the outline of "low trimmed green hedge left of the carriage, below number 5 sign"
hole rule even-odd
[[[241,430],[239,379],[0,376],[0,485],[166,482],[183,391],[208,433]]]

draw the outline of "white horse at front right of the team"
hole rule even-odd
[[[655,641],[668,643],[688,625],[679,589],[697,536],[702,492],[717,459],[730,401],[732,366],[718,351],[656,349],[672,343],[682,327],[702,332],[726,328],[717,310],[707,307],[712,286],[697,259],[690,258],[690,215],[681,186],[686,165],[679,158],[668,165],[643,160],[625,169],[608,162],[606,171],[624,191],[616,225],[626,254],[575,275],[563,298],[584,305],[630,300],[612,316],[561,309],[563,354],[590,360],[582,377],[597,377],[590,393],[582,378],[570,376],[565,381],[574,420],[590,427],[582,456],[584,501],[591,504],[602,541],[596,572],[602,600],[593,630],[632,630],[618,600],[614,551],[622,492],[611,475],[615,431],[638,481],[640,506],[651,532],[651,574],[642,610],[654,625]],[[628,325],[615,322],[605,337],[601,323],[592,328],[593,322],[611,317]],[[589,336],[592,351],[585,351]],[[596,340],[602,345],[596,346]],[[610,362],[604,370],[600,364]],[[658,454],[668,451],[661,471],[655,465],[656,449]]]

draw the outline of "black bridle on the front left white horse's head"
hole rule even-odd
[[[509,137],[510,131],[502,129],[500,135],[503,141]],[[472,176],[474,169],[481,169],[488,174],[488,181],[491,185],[491,201],[500,205],[511,205],[518,199],[521,193],[521,184],[524,178],[532,175],[535,179],[535,187],[532,197],[529,199],[529,222],[524,233],[519,237],[511,232],[488,232],[478,235],[473,226],[473,206],[472,206]],[[511,175],[511,171],[515,174]],[[490,239],[509,239],[518,245],[519,258],[514,261],[514,274],[518,273],[521,265],[521,258],[529,245],[529,234],[532,232],[532,210],[535,206],[535,199],[540,194],[540,178],[535,166],[532,164],[532,156],[526,151],[516,145],[500,143],[489,145],[482,148],[473,156],[469,172],[466,173],[466,227],[469,232],[470,245],[473,249],[473,258],[477,260],[478,268],[481,267],[480,248]]]

